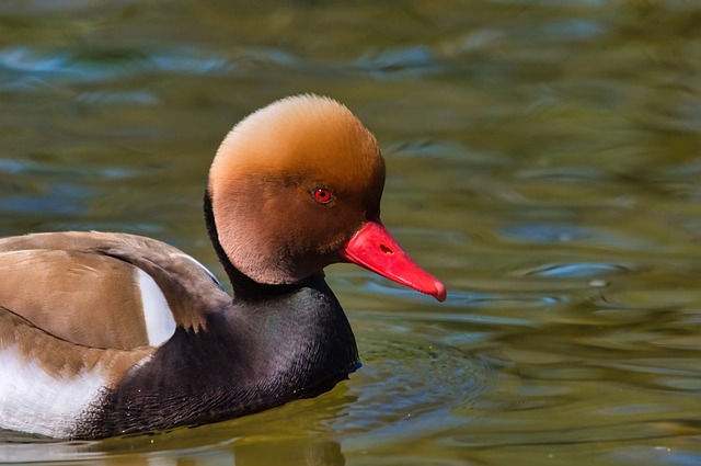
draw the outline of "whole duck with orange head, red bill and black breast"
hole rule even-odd
[[[0,429],[88,440],[202,425],[332,389],[360,367],[324,268],[350,262],[446,299],[380,220],[386,164],[343,104],[300,94],[226,135],[207,232],[229,294],[156,239],[0,239]]]

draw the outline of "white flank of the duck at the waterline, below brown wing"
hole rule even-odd
[[[76,377],[53,377],[11,348],[0,350],[0,428],[53,437],[71,434],[105,384],[100,366]]]

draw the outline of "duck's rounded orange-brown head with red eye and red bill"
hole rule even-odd
[[[335,262],[446,298],[380,221],[384,160],[348,109],[286,98],[237,124],[211,164],[208,195],[227,259],[262,284],[292,284]]]

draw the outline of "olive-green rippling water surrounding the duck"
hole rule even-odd
[[[229,127],[300,92],[378,136],[383,219],[444,304],[329,281],[364,367],[157,435],[0,434],[0,461],[701,463],[701,7],[630,0],[4,1],[4,236],[101,229],[221,275],[200,214]]]

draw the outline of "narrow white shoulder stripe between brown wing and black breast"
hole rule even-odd
[[[159,346],[175,333],[175,319],[168,300],[151,275],[139,269],[139,289],[146,332],[151,346]]]

